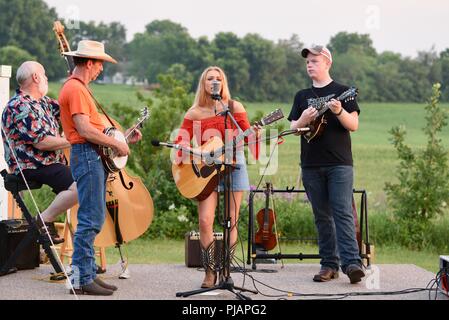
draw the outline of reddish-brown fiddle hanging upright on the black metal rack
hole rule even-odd
[[[273,186],[270,182],[267,182],[265,188],[265,208],[262,208],[257,212],[257,222],[259,223],[259,230],[257,230],[254,243],[262,246],[265,250],[272,250],[276,247],[276,234],[273,232],[273,225],[276,221],[276,215],[274,211],[269,208],[270,206],[270,194],[273,190]]]

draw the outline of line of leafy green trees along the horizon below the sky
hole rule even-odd
[[[56,11],[42,0],[0,0],[0,64],[16,69],[22,61],[35,59],[45,66],[50,80],[65,77],[52,31],[57,19]],[[80,21],[79,28],[67,29],[66,35],[72,49],[81,39],[105,43],[120,61],[105,65],[106,76],[121,72],[157,83],[159,74],[174,72],[194,90],[201,71],[219,65],[229,77],[233,96],[246,101],[291,102],[297,90],[310,85],[300,56],[304,43],[297,34],[277,42],[232,32],[195,39],[178,23],[155,20],[129,42],[119,22]],[[363,101],[422,102],[435,82],[442,84],[442,100],[449,101],[449,48],[404,57],[377,52],[369,35],[347,32],[335,34],[325,45],[333,54],[332,77],[357,86]]]

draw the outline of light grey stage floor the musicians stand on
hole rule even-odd
[[[415,265],[372,265],[367,276],[358,284],[350,284],[346,275],[325,283],[312,281],[319,270],[318,264],[258,264],[257,270],[247,269],[247,275],[232,272],[236,286],[244,286],[260,293],[244,294],[254,300],[428,300],[429,291],[407,294],[391,294],[393,291],[426,288],[435,275]],[[48,265],[33,270],[22,270],[0,277],[1,300],[74,300],[64,283],[52,283],[45,278],[52,271]],[[187,268],[181,264],[130,265],[130,279],[118,279],[119,265],[109,265],[107,273],[100,275],[105,281],[119,287],[110,297],[79,296],[80,300],[235,300],[227,290],[215,290],[207,294],[177,298],[177,292],[199,289],[203,271]],[[255,282],[253,282],[253,279]],[[243,282],[244,281],[244,282]],[[255,285],[254,285],[255,284]],[[265,286],[266,285],[266,286]],[[267,287],[269,286],[269,287]],[[275,289],[282,290],[277,291]],[[294,293],[288,296],[286,292]],[[354,292],[376,295],[354,295]],[[309,294],[322,294],[308,296]],[[333,294],[333,296],[326,296]],[[337,295],[339,294],[339,295]],[[431,292],[431,299],[435,291]],[[438,300],[448,300],[438,294]]]

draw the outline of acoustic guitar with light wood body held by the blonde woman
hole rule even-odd
[[[255,125],[266,126],[284,117],[281,109],[271,112],[269,115],[257,121]],[[235,138],[235,145],[238,145],[245,137],[253,133],[253,129],[249,128],[240,133]],[[198,150],[199,149],[199,150]],[[190,161],[183,161],[180,164],[172,165],[173,179],[179,192],[188,199],[202,201],[209,197],[218,185],[218,173],[223,172],[224,165],[219,165],[217,170],[216,163],[224,162],[225,146],[219,137],[212,137],[200,148],[195,149],[196,154],[213,155],[210,159],[198,159],[198,156],[191,156]],[[188,152],[187,148],[183,148]],[[205,160],[205,161],[204,161]],[[215,161],[214,161],[215,160]]]

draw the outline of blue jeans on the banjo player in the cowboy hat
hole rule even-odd
[[[99,155],[88,143],[72,145],[70,168],[76,181],[79,201],[72,268],[74,276],[79,276],[77,282],[84,286],[96,278],[94,240],[105,219],[107,174]]]

